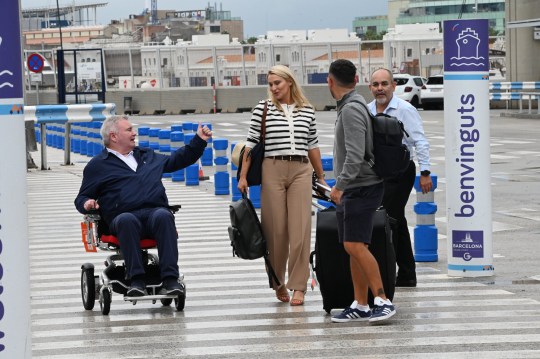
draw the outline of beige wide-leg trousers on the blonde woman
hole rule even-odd
[[[270,263],[280,283],[286,283],[290,290],[305,291],[311,249],[313,167],[309,162],[267,158],[262,173],[261,225]]]

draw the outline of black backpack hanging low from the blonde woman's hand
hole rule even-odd
[[[229,205],[229,214],[231,225],[228,231],[233,257],[250,260],[263,257],[270,288],[272,288],[272,281],[280,286],[281,284],[270,264],[266,239],[263,236],[261,223],[251,200],[242,194],[240,200]]]

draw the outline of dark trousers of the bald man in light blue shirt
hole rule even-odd
[[[410,162],[407,170],[399,177],[384,181],[383,206],[388,215],[397,221],[393,228],[392,240],[396,251],[398,281],[416,281],[416,263],[411,245],[411,236],[405,218],[405,206],[414,186],[416,165]]]

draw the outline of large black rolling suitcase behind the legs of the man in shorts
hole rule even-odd
[[[396,255],[392,244],[390,218],[380,208],[373,219],[373,236],[369,249],[381,272],[386,296],[393,300],[396,283]],[[310,263],[323,298],[323,309],[330,313],[335,308],[346,308],[354,301],[349,255],[339,243],[335,208],[317,213],[315,250]],[[373,305],[373,296],[368,298]]]

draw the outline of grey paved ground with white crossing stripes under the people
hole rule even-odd
[[[335,112],[317,114],[323,153],[331,153]],[[62,166],[48,149],[50,171],[28,172],[32,348],[34,358],[540,358],[540,122],[501,118],[492,111],[492,196],[495,276],[446,275],[444,123],[422,113],[439,175],[436,215],[439,261],[418,263],[418,287],[400,288],[389,325],[334,324],[317,289],[306,305],[277,302],[263,262],[231,256],[228,196],[211,181],[199,187],[165,181],[176,216],[186,308],[136,306],[113,296],[111,312],[85,311],[80,267],[103,268],[106,253],[84,252],[73,207],[84,164]],[[245,137],[249,114],[134,117],[163,127],[211,122],[217,137]],[[39,154],[33,153],[40,164]],[[205,169],[205,174],[212,171]],[[409,221],[414,227],[411,196]]]

